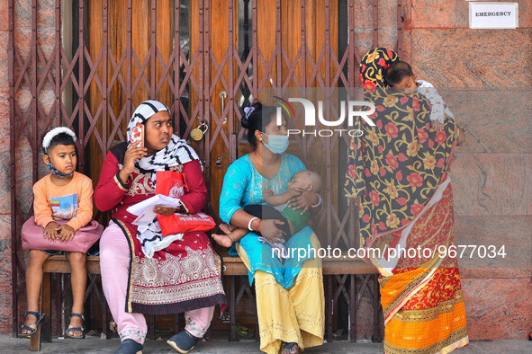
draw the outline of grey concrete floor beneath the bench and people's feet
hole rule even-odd
[[[116,338],[101,340],[99,337],[87,336],[85,340],[54,338],[51,343],[42,343],[43,353],[113,353],[120,341]],[[30,352],[30,341],[27,339],[0,336],[0,352]],[[144,353],[176,353],[165,341],[146,341]],[[214,340],[199,343],[191,353],[260,353],[258,343],[252,340],[229,342]],[[382,343],[350,343],[334,341],[323,346],[305,350],[305,353],[383,353]],[[532,353],[532,341],[473,341],[468,347],[456,353]]]

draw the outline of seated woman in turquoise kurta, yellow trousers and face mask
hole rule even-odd
[[[273,254],[268,243],[258,239],[258,233],[268,240],[282,237],[275,220],[253,219],[243,208],[249,204],[264,204],[263,190],[284,193],[293,175],[306,170],[293,155],[284,154],[288,145],[285,121],[277,126],[274,107],[260,103],[248,108],[242,127],[248,128],[248,140],[253,152],[230,165],[223,180],[220,197],[220,217],[231,226],[244,227],[249,232],[231,251],[238,252],[249,270],[250,283],[255,280],[257,315],[260,329],[260,349],[267,353],[296,353],[323,342],[324,296],[321,260],[310,249],[317,250],[320,242],[309,226],[294,234],[285,244],[288,254],[284,262]],[[320,196],[302,192],[291,206],[320,209]],[[302,249],[305,252],[300,252]]]

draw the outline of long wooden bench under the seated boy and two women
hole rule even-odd
[[[249,287],[248,282],[248,269],[244,265],[244,263],[240,260],[239,257],[229,257],[229,256],[222,256],[222,264],[223,264],[223,270],[222,274],[224,277],[230,277],[230,294],[227,294],[229,297],[229,311],[230,311],[230,341],[237,341],[237,335],[236,335],[236,308],[239,305],[239,301],[244,295],[244,293],[247,293],[248,296],[252,299],[253,303],[255,304],[255,299],[251,290],[251,287]],[[89,282],[86,289],[86,298],[91,291],[92,288],[97,287],[96,280],[99,278],[100,275],[100,258],[97,256],[87,256],[86,258],[86,265],[87,265],[87,274],[89,275]],[[70,273],[70,263],[68,262],[68,259],[66,256],[52,256],[47,261],[44,262],[43,265],[43,281],[42,281],[42,289],[41,289],[41,296],[39,300],[39,311],[41,313],[47,314],[48,318],[45,318],[44,323],[38,328],[37,332],[35,332],[32,335],[31,340],[31,350],[41,350],[41,341],[51,341],[51,274],[52,273],[59,273],[59,274],[68,274]],[[370,276],[377,274],[377,271],[372,267],[371,265],[365,263],[365,261],[361,261],[358,259],[350,259],[347,256],[344,258],[342,255],[338,259],[334,258],[326,258],[323,259],[323,275],[326,276],[325,278],[329,278],[327,281],[326,289],[325,289],[325,296],[326,299],[326,314],[329,316],[328,321],[328,328],[327,328],[327,339],[328,341],[332,341],[332,317],[330,316],[332,314],[332,302],[337,300],[341,294],[346,298],[347,304],[349,305],[349,318],[350,323],[352,323],[350,332],[349,332],[349,338],[351,341],[355,341],[355,314],[356,314],[356,307],[360,301],[360,296],[362,291],[357,294],[356,296],[356,279],[354,278],[356,275],[364,275],[363,284],[360,287],[362,290],[366,286],[369,286],[369,280]],[[350,279],[350,290],[347,291],[346,288],[344,288],[347,277],[351,277]],[[240,288],[239,293],[237,294],[236,289],[236,278],[241,277],[240,281]],[[332,294],[332,279],[331,277],[336,277],[338,280],[338,288],[336,293]],[[374,290],[378,291],[378,284],[376,283],[376,278],[374,279]],[[97,289],[97,288],[96,288]],[[100,291],[96,291],[96,296],[98,297],[98,300],[103,305],[103,314],[102,314],[102,322],[103,322],[103,331],[105,334],[107,334],[108,331],[108,325],[107,325],[107,306],[106,301],[103,296],[103,294]],[[331,301],[332,299],[332,301]],[[354,304],[354,305],[351,305]],[[149,331],[154,333],[154,321],[151,321],[149,323],[150,329]],[[177,321],[176,321],[177,326]],[[378,298],[374,296],[374,333],[378,331],[379,328],[379,302]],[[177,332],[177,328],[176,328]],[[374,334],[375,335],[375,334]],[[258,339],[258,331],[256,331],[256,339]],[[378,338],[375,338],[376,341],[378,341]]]

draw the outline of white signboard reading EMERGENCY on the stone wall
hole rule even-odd
[[[469,3],[469,28],[517,28],[518,3]]]

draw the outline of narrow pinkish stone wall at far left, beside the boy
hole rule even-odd
[[[24,62],[32,50],[32,2],[30,0],[16,1],[14,13],[14,48]],[[50,60],[55,45],[55,1],[40,0],[37,2],[38,27],[36,31],[41,53]],[[11,267],[11,169],[10,169],[10,137],[9,137],[9,82],[8,82],[8,45],[9,45],[9,17],[8,4],[4,1],[0,5],[0,333],[12,332],[12,267]],[[32,65],[32,64],[30,64]],[[37,71],[39,80],[44,68],[44,62],[39,59]],[[17,64],[18,67],[18,64]],[[31,66],[30,66],[31,67]],[[55,68],[51,66],[50,75],[55,75]],[[28,80],[29,79],[29,80]],[[24,79],[15,95],[15,105],[24,114],[31,111],[32,95],[30,85],[32,78]],[[48,114],[53,105],[55,94],[50,82],[42,84],[39,92],[39,104],[42,112]],[[31,116],[30,116],[31,117]],[[17,121],[15,127],[20,127]],[[41,124],[41,122],[40,122]],[[16,193],[23,214],[26,215],[32,206],[32,150],[24,135],[18,139],[15,148],[16,158]],[[41,158],[41,155],[39,156]],[[42,177],[46,167],[40,164],[39,177]],[[20,218],[20,217],[19,217]],[[21,220],[18,220],[20,223]],[[20,226],[20,224],[19,224]],[[21,249],[20,241],[18,249]],[[19,252],[24,260],[25,252]],[[21,280],[19,276],[19,280]],[[25,298],[20,300],[19,315],[25,311]]]

